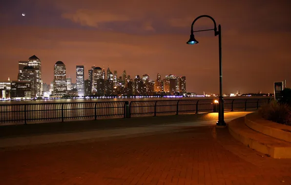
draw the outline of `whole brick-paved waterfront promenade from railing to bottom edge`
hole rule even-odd
[[[226,112],[226,121],[246,113],[249,112]],[[1,182],[5,185],[291,184],[290,159],[273,159],[243,146],[229,135],[228,129],[215,128],[217,115],[1,127],[2,147],[6,143],[0,149]],[[32,142],[33,139],[38,142]],[[15,146],[13,141],[22,143]],[[31,142],[25,145],[27,141]]]

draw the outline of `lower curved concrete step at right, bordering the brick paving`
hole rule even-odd
[[[245,117],[229,122],[230,134],[244,145],[261,153],[269,154],[273,158],[291,158],[291,143],[270,137],[250,129],[245,124]]]

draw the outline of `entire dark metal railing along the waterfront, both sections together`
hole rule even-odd
[[[269,98],[226,99],[225,111],[259,109]],[[146,115],[166,115],[217,112],[214,99],[110,101],[82,103],[41,103],[0,105],[0,123],[67,121],[73,119],[130,118]]]

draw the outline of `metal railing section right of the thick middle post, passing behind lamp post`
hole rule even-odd
[[[260,99],[226,99],[225,111],[256,110],[269,103],[269,98]],[[217,112],[218,103],[213,99],[195,100],[158,100],[158,101],[131,101],[129,117],[157,114],[180,114]]]

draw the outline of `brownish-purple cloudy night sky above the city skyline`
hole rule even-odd
[[[126,70],[131,77],[176,74],[187,91],[219,90],[218,37],[197,33],[196,17],[222,26],[223,92],[273,92],[291,87],[291,0],[3,0],[0,4],[0,80],[17,80],[18,60],[42,60],[43,82],[61,60],[76,81],[76,65]],[[26,16],[22,17],[22,13]],[[199,19],[194,30],[212,29]]]

